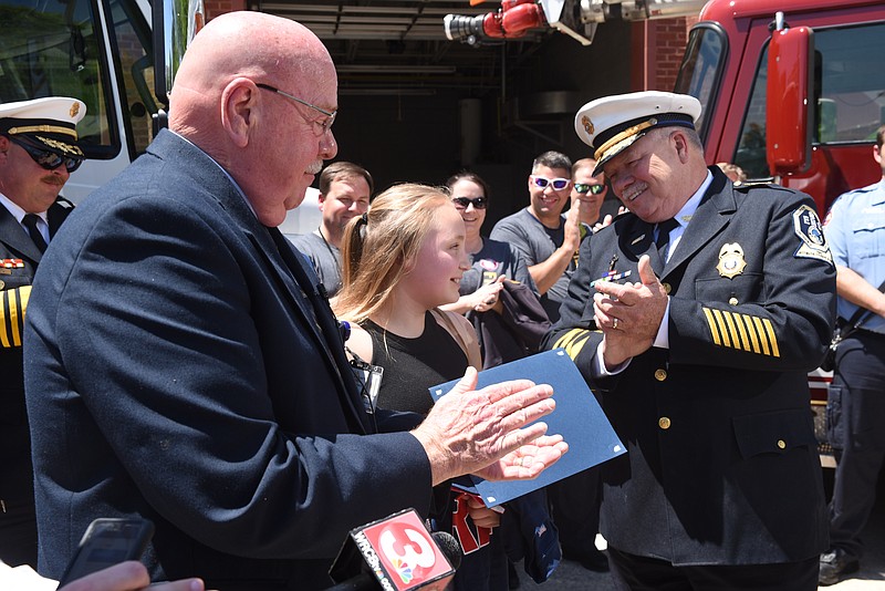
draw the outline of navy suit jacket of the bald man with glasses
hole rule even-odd
[[[364,435],[303,257],[201,151],[162,132],[53,246],[25,326],[42,574],[61,576],[91,520],[139,515],[155,580],[325,588],[350,528],[427,511],[420,444]]]

